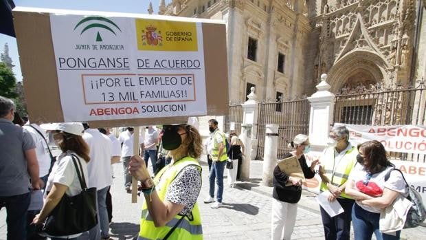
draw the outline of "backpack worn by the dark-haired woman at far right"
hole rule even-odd
[[[422,196],[418,191],[410,186],[407,183],[407,180],[405,180],[403,172],[397,168],[391,169],[388,173],[385,175],[385,181],[388,181],[390,177],[390,173],[392,171],[399,171],[401,175],[403,175],[403,179],[405,182],[405,187],[408,188],[408,196],[407,199],[412,202],[412,206],[410,210],[408,210],[407,213],[407,219],[405,220],[404,228],[416,228],[419,226],[423,221],[426,219],[426,209],[425,205],[423,205]]]

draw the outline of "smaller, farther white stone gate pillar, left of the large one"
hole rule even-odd
[[[258,96],[254,93],[255,88],[251,87],[251,93],[247,95],[249,100],[245,101],[243,106],[243,124],[251,124],[251,144],[245,145],[247,149],[250,149],[249,155],[246,155],[248,160],[254,160],[256,152],[258,150],[258,111],[259,102],[257,101]]]

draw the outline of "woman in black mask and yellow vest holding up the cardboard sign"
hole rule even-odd
[[[142,157],[129,171],[142,182],[145,200],[138,239],[203,239],[197,198],[201,190],[201,136],[188,124],[164,125],[161,142],[172,157],[152,180]]]

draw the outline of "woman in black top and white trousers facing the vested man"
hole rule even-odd
[[[305,153],[308,153],[311,149],[309,137],[304,134],[298,134],[289,144],[289,147],[293,148],[294,151],[284,155],[284,159],[291,156],[297,157],[304,177],[313,178],[315,176],[314,168],[317,166],[318,160],[312,161],[310,167],[306,164],[306,157],[309,156],[305,155]],[[298,201],[301,195],[302,179],[291,177],[281,171],[277,165],[273,169],[271,239],[291,239],[298,210]]]

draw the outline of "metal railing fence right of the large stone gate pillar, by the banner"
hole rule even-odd
[[[395,89],[380,85],[370,89],[360,87],[343,91],[335,98],[334,122],[363,125],[426,124],[426,87],[421,81],[416,87]],[[426,162],[425,154],[390,152],[390,157],[414,162]]]

